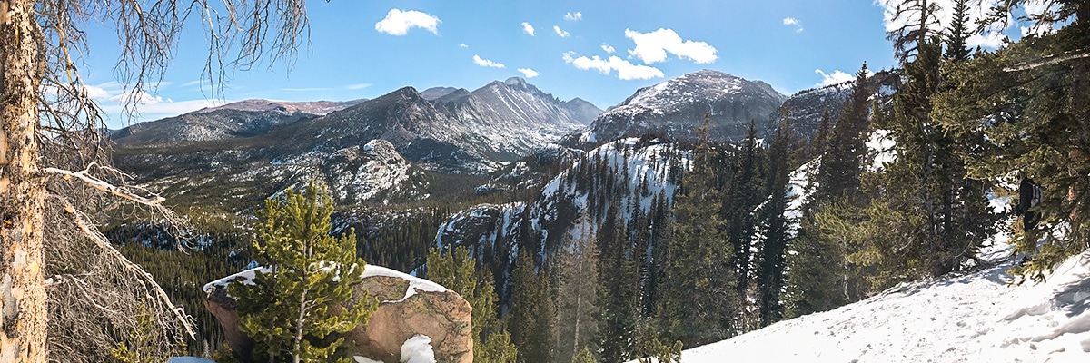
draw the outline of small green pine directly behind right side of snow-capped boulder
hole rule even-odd
[[[477,264],[464,246],[440,253],[432,249],[427,254],[427,279],[457,292],[473,307],[470,324],[473,327],[473,361],[485,363],[513,363],[518,351],[510,343],[510,335],[497,318],[497,298],[492,273],[477,270]]]

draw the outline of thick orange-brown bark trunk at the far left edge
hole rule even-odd
[[[28,0],[0,0],[0,362],[46,361],[37,93],[40,35]]]

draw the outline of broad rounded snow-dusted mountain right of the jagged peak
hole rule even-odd
[[[690,140],[704,113],[711,113],[712,138],[741,140],[754,120],[760,134],[770,130],[771,114],[787,97],[761,81],[747,81],[723,72],[703,70],[640,88],[618,106],[602,113],[590,129],[565,137],[569,146],[596,146],[626,136],[662,133]]]

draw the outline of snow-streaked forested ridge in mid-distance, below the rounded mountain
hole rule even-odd
[[[534,253],[542,259],[556,253],[580,216],[589,215],[590,227],[596,229],[610,209],[620,223],[634,220],[637,213],[644,221],[655,213],[663,215],[690,155],[659,142],[625,138],[588,152],[530,203],[483,204],[453,214],[435,243],[467,246],[479,261],[489,263],[502,299],[517,254]]]

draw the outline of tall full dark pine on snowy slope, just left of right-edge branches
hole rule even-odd
[[[950,31],[958,32],[965,31]],[[903,64],[907,82],[894,96],[892,118],[881,122],[896,140],[897,158],[882,176],[875,177],[877,185],[872,189],[884,205],[870,210],[874,214],[872,219],[883,218],[881,215],[887,213],[923,217],[922,226],[910,223],[911,218],[892,218],[893,222],[908,225],[891,229],[915,233],[907,234],[907,241],[897,243],[898,246],[873,245],[872,251],[877,255],[871,259],[879,262],[875,266],[879,275],[900,275],[906,279],[920,277],[906,266],[916,266],[930,276],[958,269],[976,255],[993,221],[983,207],[986,204],[983,182],[967,177],[965,156],[976,148],[973,144],[979,140],[958,137],[932,116],[933,99],[946,87],[942,41],[934,37],[913,43],[917,57]],[[874,232],[888,235],[885,231]],[[883,235],[872,240],[880,241]],[[912,246],[906,249],[908,244]],[[896,282],[899,281],[880,281],[874,288]]]

